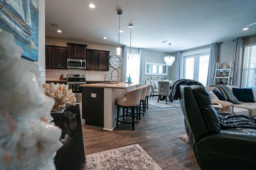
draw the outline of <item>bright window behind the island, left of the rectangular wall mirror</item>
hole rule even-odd
[[[128,57],[127,54],[127,61],[126,61],[126,78],[132,78],[132,82],[139,82],[140,81],[140,55],[132,54],[132,57]],[[154,68],[153,68],[154,69]],[[126,79],[128,82],[128,80]]]

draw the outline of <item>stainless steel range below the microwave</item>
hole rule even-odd
[[[80,84],[86,84],[85,74],[68,74],[68,90],[72,89],[72,92],[76,97],[76,102],[82,102],[82,87]]]

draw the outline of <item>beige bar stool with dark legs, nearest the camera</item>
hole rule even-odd
[[[134,116],[134,109],[138,109],[138,106],[140,105],[140,96],[142,92],[142,87],[132,89],[128,92],[126,92],[126,96],[116,98],[116,104],[117,104],[117,120],[116,120],[116,127],[118,127],[118,122],[125,123],[125,124],[132,124],[132,130],[134,131],[134,123],[138,123],[138,113],[136,116]],[[120,107],[123,108],[123,114],[119,116]],[[132,115],[126,115],[132,117],[131,122],[124,121],[124,109],[132,109]],[[119,117],[122,117],[122,121],[119,120]],[[134,121],[134,118],[136,118],[136,121]]]

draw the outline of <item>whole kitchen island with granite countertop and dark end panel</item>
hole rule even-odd
[[[83,84],[82,86],[82,118],[86,125],[103,127],[112,131],[116,125],[116,98],[125,96],[142,83],[106,82]],[[122,114],[122,111],[120,112]]]

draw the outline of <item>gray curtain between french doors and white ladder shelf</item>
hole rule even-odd
[[[219,43],[211,44],[206,86],[210,86],[214,84],[215,69],[218,61],[218,51],[219,51]]]

